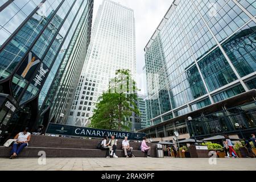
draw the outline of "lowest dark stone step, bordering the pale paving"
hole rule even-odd
[[[105,157],[106,151],[98,149],[86,149],[86,148],[52,148],[52,147],[26,147],[20,153],[19,157],[26,158],[39,158],[39,151],[46,152],[46,157],[49,158],[60,158],[60,157],[71,157],[71,158],[102,158]],[[11,147],[0,146],[0,157],[9,157]],[[146,156],[144,152],[134,150],[133,154],[135,157]],[[123,150],[117,150],[118,157],[125,157]]]

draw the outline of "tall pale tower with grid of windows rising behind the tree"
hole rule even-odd
[[[67,125],[90,124],[98,97],[108,89],[118,69],[129,69],[135,78],[134,13],[119,3],[104,0],[93,25],[92,40]]]

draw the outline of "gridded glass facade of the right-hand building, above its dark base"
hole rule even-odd
[[[144,48],[151,125],[255,89],[255,15],[255,1],[172,2]]]

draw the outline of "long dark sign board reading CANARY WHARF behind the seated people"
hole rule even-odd
[[[114,135],[116,139],[124,139],[125,137],[128,137],[129,140],[143,140],[143,137],[146,137],[146,134],[144,133],[92,129],[89,127],[59,125],[56,123],[49,123],[46,133],[90,138],[103,138],[104,135],[107,135],[108,138],[110,138]]]

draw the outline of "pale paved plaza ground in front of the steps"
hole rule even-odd
[[[46,162],[46,164],[42,164]],[[214,164],[216,163],[216,164]],[[38,158],[0,159],[0,171],[182,171],[255,170],[256,159],[180,159],[180,158]]]

